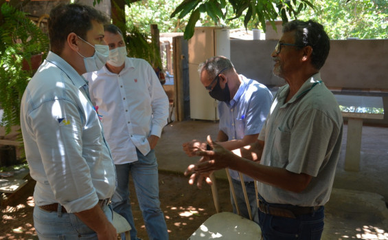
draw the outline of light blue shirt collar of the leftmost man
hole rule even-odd
[[[69,77],[73,85],[77,88],[80,88],[88,83],[87,80],[85,80],[82,76],[80,76],[80,74],[78,74],[76,69],[71,67],[71,65],[69,65],[69,63],[67,63],[67,61],[65,61],[63,58],[61,58],[57,54],[54,54],[54,52],[50,51],[49,54],[47,54],[46,61],[56,65],[59,69],[65,72],[65,74]]]

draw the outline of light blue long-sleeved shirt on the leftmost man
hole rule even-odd
[[[80,212],[115,191],[115,166],[85,89],[87,81],[53,52],[25,89],[21,131],[38,206]]]

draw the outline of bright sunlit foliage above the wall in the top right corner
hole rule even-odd
[[[388,39],[388,1],[312,0],[315,11],[301,12],[299,19],[323,24],[330,39]]]

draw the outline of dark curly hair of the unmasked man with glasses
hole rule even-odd
[[[295,31],[296,45],[312,47],[311,63],[315,68],[321,69],[330,51],[330,39],[323,25],[312,20],[295,20],[283,25],[283,32],[292,31]]]

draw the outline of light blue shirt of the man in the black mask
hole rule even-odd
[[[245,135],[260,133],[272,102],[271,91],[258,81],[239,75],[240,87],[230,102],[219,102],[219,129],[228,140],[241,140]],[[229,170],[233,179],[240,179],[237,171]],[[253,179],[244,175],[245,182]]]

